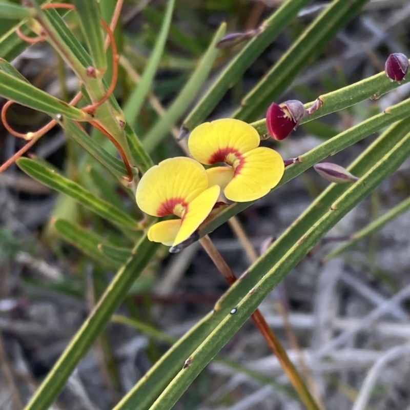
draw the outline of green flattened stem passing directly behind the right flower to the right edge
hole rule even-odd
[[[286,182],[300,175],[302,172],[313,167],[315,163],[323,160],[324,158],[336,154],[341,150],[355,144],[361,139],[381,130],[382,128],[393,124],[393,122],[400,119],[406,118],[408,112],[410,111],[410,100],[402,101],[401,103],[389,107],[385,110],[387,113],[380,113],[374,115],[356,125],[344,131],[335,137],[323,142],[318,147],[309,151],[306,154],[300,155],[299,163],[295,163],[289,167],[286,167],[284,175],[279,182],[279,184],[274,188],[274,190],[280,188]],[[218,228],[222,223],[226,222],[229,218],[237,215],[239,212],[247,209],[251,206],[253,202],[241,202],[234,203],[229,207],[225,208],[219,214],[217,214],[213,219],[210,219],[200,231],[200,235],[206,235],[216,228]]]

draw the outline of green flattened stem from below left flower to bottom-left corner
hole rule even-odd
[[[117,272],[94,310],[80,327],[64,353],[55,363],[43,383],[35,392],[25,410],[47,410],[60,394],[78,362],[85,356],[111,315],[126,298],[128,290],[155,254],[158,244],[146,236],[135,245],[133,256]]]

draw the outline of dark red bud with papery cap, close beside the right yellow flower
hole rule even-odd
[[[306,115],[303,104],[292,99],[282,104],[272,103],[266,114],[266,126],[273,139],[285,139]]]

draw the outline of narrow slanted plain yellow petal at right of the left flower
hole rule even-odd
[[[173,246],[188,239],[212,211],[218,200],[220,188],[214,185],[197,196],[188,206],[188,211],[182,219],[181,228]]]

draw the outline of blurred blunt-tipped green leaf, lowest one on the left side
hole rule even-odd
[[[114,260],[100,251],[101,245],[105,240],[94,232],[74,225],[64,219],[57,219],[54,222],[54,227],[67,242],[71,243],[80,252],[94,259],[101,266],[119,269],[121,265],[124,264],[124,260],[120,263],[118,260]],[[128,257],[129,256],[130,252],[128,253]],[[128,257],[125,260],[127,260]]]

